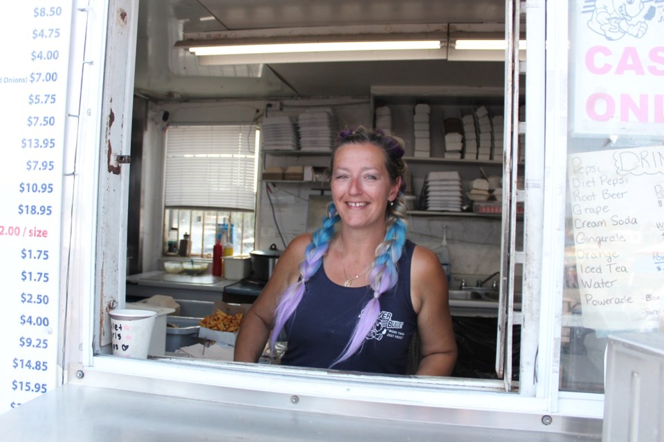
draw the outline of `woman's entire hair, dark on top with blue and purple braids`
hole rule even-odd
[[[376,258],[371,263],[371,271],[369,271],[369,283],[371,289],[374,290],[374,297],[365,305],[355,329],[353,329],[353,334],[349,342],[342,354],[340,354],[332,365],[345,361],[358,352],[365,342],[367,334],[371,332],[371,329],[376,324],[376,320],[378,320],[378,316],[380,315],[380,295],[396,285],[398,278],[396,264],[401,257],[403,245],[406,240],[406,205],[403,198],[403,191],[405,191],[406,186],[405,175],[407,168],[402,158],[404,153],[402,140],[398,137],[385,135],[385,133],[382,133],[378,129],[376,131],[367,131],[365,128],[359,127],[342,131],[339,134],[338,142],[333,148],[329,170],[333,170],[334,155],[338,148],[346,144],[362,144],[367,142],[385,151],[385,164],[390,181],[394,183],[398,177],[401,177],[401,186],[394,204],[387,206],[385,213],[385,240],[376,247]],[[320,268],[323,257],[328,251],[329,243],[334,238],[334,225],[338,220],[340,220],[340,216],[337,213],[337,209],[333,203],[330,203],[327,216],[323,219],[322,227],[313,233],[311,243],[306,247],[304,260],[299,265],[299,280],[289,286],[282,296],[279,297],[275,311],[275,323],[270,336],[270,348],[272,350],[274,350],[277,336],[279,336],[279,333],[284,328],[286,320],[295,312],[299,301],[302,300],[306,282]]]

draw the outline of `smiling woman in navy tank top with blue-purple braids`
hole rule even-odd
[[[403,152],[401,140],[380,131],[340,133],[323,226],[279,258],[243,320],[236,361],[257,362],[284,329],[282,365],[405,374],[418,334],[417,374],[451,374],[457,347],[445,272],[432,251],[405,238]]]

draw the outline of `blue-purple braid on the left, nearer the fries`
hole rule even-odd
[[[334,224],[340,220],[334,203],[327,206],[327,218],[323,219],[323,225],[312,235],[311,243],[304,251],[304,260],[299,264],[299,279],[288,286],[279,297],[275,309],[275,323],[270,335],[270,354],[275,352],[277,337],[284,328],[286,320],[297,309],[297,305],[304,295],[304,285],[313,276],[323,262],[323,256],[327,253],[331,238],[334,236]]]

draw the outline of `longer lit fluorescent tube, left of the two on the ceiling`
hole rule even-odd
[[[345,52],[356,50],[440,49],[440,40],[412,41],[335,41],[320,43],[247,44],[239,46],[198,46],[189,48],[198,56],[286,54],[299,52]]]

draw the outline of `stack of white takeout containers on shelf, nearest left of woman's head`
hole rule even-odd
[[[297,126],[303,151],[332,150],[337,136],[337,120],[331,108],[307,109],[297,117]]]

